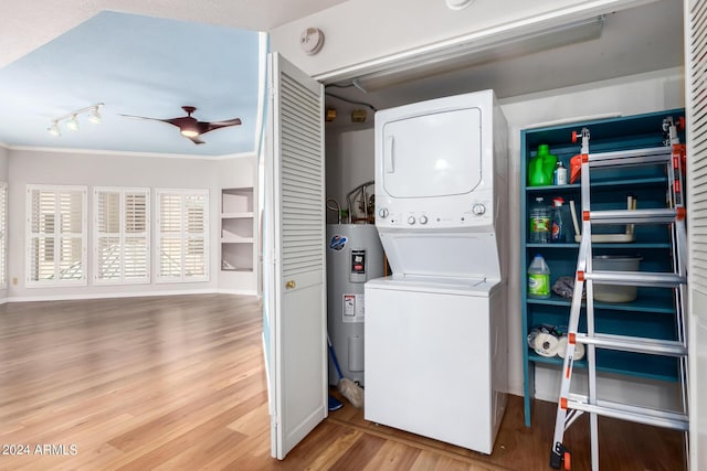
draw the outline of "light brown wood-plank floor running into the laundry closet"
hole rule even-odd
[[[549,469],[555,407],[537,402],[527,428],[517,396],[492,456],[367,422],[346,404],[274,460],[261,332],[246,297],[0,307],[0,469]],[[566,435],[574,470],[589,469],[583,419]],[[604,470],[686,468],[682,433],[600,419],[600,437]]]

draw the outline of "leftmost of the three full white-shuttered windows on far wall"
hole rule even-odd
[[[86,285],[86,186],[27,186],[28,287]]]

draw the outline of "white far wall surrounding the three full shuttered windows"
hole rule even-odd
[[[220,280],[220,212],[221,188],[253,185],[253,157],[225,160],[165,158],[149,154],[112,154],[107,152],[60,152],[50,150],[11,149],[9,169],[9,272],[8,298],[13,300],[67,299],[104,296],[215,292],[219,288],[255,293],[253,274],[240,274],[241,279]],[[2,156],[0,154],[0,158]],[[1,160],[0,160],[1,163]],[[1,170],[0,170],[1,172]],[[88,286],[62,288],[25,287],[25,194],[27,184],[61,184],[88,186]],[[152,257],[152,280],[149,285],[93,286],[93,186],[145,186],[152,195],[152,255],[157,246],[155,229],[155,190],[209,189],[210,191],[210,281],[189,283],[156,283],[156,261]],[[17,279],[17,283],[14,280]],[[240,286],[235,286],[235,283]]]

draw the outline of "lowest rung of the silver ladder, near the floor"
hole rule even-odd
[[[674,430],[687,431],[689,421],[687,414],[669,410],[658,410],[648,407],[631,406],[610,400],[597,400],[595,405],[589,404],[585,396],[571,394],[567,400],[569,409],[597,414],[604,417],[613,417],[621,420],[630,420],[655,427],[664,427]]]

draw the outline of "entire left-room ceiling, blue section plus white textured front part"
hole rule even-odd
[[[4,1],[0,29],[0,144],[189,156],[253,152],[260,138],[258,31],[344,0]],[[113,10],[113,11],[112,11]],[[103,122],[52,121],[104,103]],[[194,144],[166,122],[194,106],[202,121],[241,126]]]

